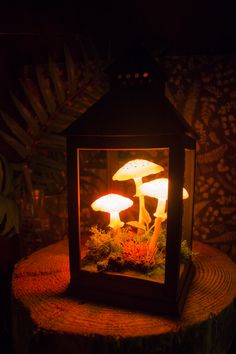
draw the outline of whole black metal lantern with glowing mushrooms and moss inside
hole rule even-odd
[[[66,130],[70,289],[177,315],[194,274],[196,135],[143,48],[110,76],[110,92]]]

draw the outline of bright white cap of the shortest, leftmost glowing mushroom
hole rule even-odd
[[[119,194],[107,194],[95,200],[91,207],[95,211],[120,212],[133,205],[133,201]]]

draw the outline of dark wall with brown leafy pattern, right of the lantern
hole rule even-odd
[[[236,260],[236,56],[165,59],[167,94],[199,134],[195,239]]]

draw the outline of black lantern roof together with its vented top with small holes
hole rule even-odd
[[[158,136],[196,133],[165,97],[164,75],[141,46],[108,69],[111,89],[73,122],[68,136]]]

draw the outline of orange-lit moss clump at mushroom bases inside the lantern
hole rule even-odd
[[[132,227],[121,229],[100,230],[91,228],[92,235],[87,241],[87,253],[83,266],[95,266],[97,271],[124,272],[133,270],[143,274],[153,274],[164,271],[166,227],[157,241],[156,252],[149,253],[149,241],[152,232],[137,232]],[[186,241],[181,245],[181,261],[186,261],[193,255]]]

